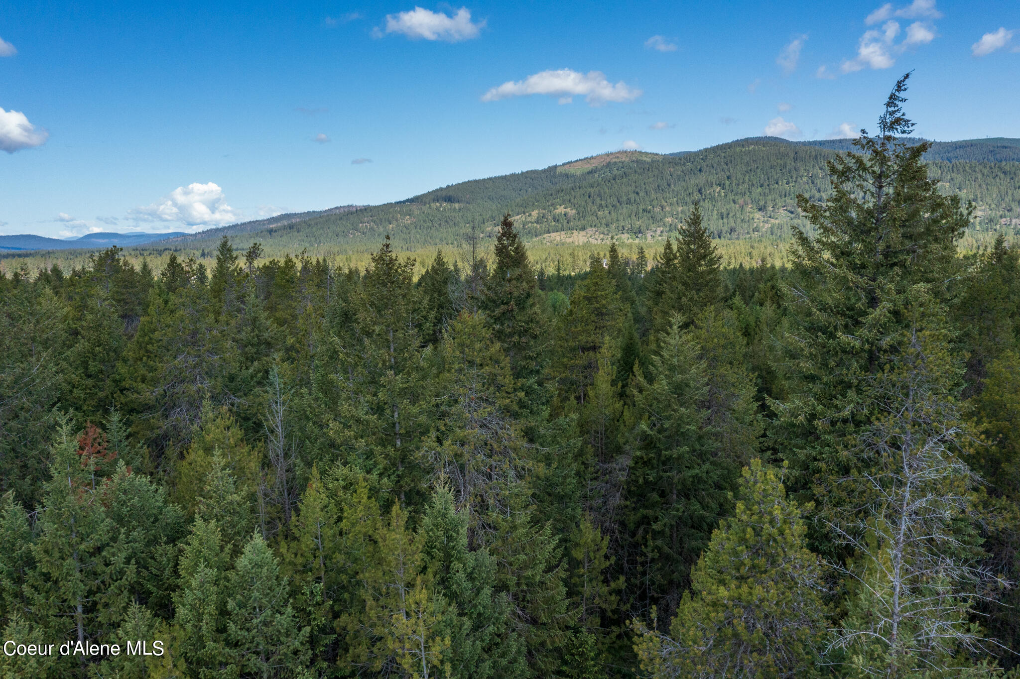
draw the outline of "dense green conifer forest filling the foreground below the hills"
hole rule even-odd
[[[489,194],[492,248],[417,276],[390,237],[0,273],[3,640],[164,649],[0,674],[1018,676],[1020,252],[958,254],[905,91],[796,147],[786,267],[692,196],[551,271]]]

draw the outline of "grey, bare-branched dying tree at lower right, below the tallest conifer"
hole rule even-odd
[[[994,643],[969,622],[997,578],[961,529],[980,479],[957,456],[964,430],[947,388],[952,363],[945,344],[916,327],[905,344],[895,368],[874,377],[880,414],[853,451],[860,471],[836,483],[859,500],[828,520],[858,555],[834,565],[857,594],[829,650],[889,678],[949,671],[959,651]]]

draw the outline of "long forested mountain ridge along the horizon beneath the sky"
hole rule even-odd
[[[910,140],[920,142],[922,140]],[[450,185],[385,205],[347,205],[282,214],[198,233],[90,233],[76,241],[0,237],[0,250],[140,248],[205,251],[231,237],[236,249],[261,242],[265,252],[372,248],[386,234],[416,249],[460,246],[474,229],[491,236],[506,212],[528,240],[555,243],[651,241],[675,232],[695,200],[715,238],[788,238],[810,228],[796,196],[830,191],[826,161],[853,150],[851,140],[738,140],[661,155],[617,151],[529,170]],[[944,191],[973,201],[981,229],[1020,232],[1020,140],[935,142],[925,155]]]

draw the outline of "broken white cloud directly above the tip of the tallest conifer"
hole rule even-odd
[[[896,63],[899,55],[911,47],[927,45],[936,37],[934,20],[941,18],[942,13],[935,7],[935,0],[914,0],[911,4],[899,9],[892,3],[886,3],[867,15],[866,25],[878,25],[861,36],[857,47],[857,56],[846,59],[839,69],[844,73],[852,73],[864,68],[888,68]],[[907,27],[903,39],[897,42],[902,31],[896,19],[914,19]],[[822,71],[819,69],[819,77]]]

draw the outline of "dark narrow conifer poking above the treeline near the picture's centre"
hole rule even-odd
[[[494,255],[479,306],[510,359],[514,376],[526,380],[541,369],[545,319],[527,250],[509,213],[500,222]]]

